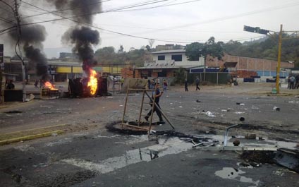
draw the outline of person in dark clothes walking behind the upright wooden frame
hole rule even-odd
[[[154,110],[152,111],[152,109],[149,111],[149,113],[147,113],[147,115],[145,116],[145,120],[146,121],[149,121],[149,118],[150,116],[152,115],[152,112],[156,111],[156,114],[157,116],[159,117],[159,123],[162,124],[162,123],[165,123],[163,121],[163,118],[162,118],[162,114],[161,114],[161,107],[159,105],[159,101],[160,101],[160,97],[163,95],[163,91],[160,91],[159,89],[159,83],[156,83],[155,85],[155,92],[154,92],[154,95],[152,95],[152,99],[154,100]],[[157,104],[157,106],[156,106]],[[150,104],[152,106],[152,103]]]

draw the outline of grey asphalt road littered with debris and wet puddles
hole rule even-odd
[[[212,138],[217,145],[225,128],[241,123],[240,117],[245,121],[229,133],[240,146],[294,148],[298,143],[297,97],[222,90],[172,89],[160,105],[177,132]],[[194,149],[176,136],[149,139],[107,131],[106,125],[121,120],[125,98],[35,99],[1,108],[1,133],[66,125],[63,135],[1,146],[1,186],[299,186],[297,173],[276,164],[240,166],[240,152]],[[127,121],[138,119],[141,99],[140,93],[130,94]],[[148,109],[146,104],[142,115]],[[153,128],[171,130],[168,123]],[[246,133],[263,140],[245,140]]]

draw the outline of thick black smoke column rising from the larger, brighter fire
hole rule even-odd
[[[47,0],[47,2],[54,4],[57,10],[67,9],[68,11],[59,12],[63,16],[67,17],[71,11],[75,15],[71,18],[72,20],[85,24],[92,24],[93,14],[102,10],[102,4],[99,0]],[[78,54],[83,61],[83,71],[88,74],[87,70],[97,64],[97,61],[94,60],[92,44],[99,44],[99,32],[77,25],[63,34],[62,41],[73,44],[73,53]]]

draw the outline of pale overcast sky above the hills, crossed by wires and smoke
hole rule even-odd
[[[185,45],[191,42],[205,42],[212,36],[216,38],[216,41],[223,42],[228,42],[228,40],[243,42],[262,37],[260,34],[243,31],[244,25],[279,31],[280,24],[283,24],[283,30],[299,30],[299,0],[201,0],[180,4],[187,1],[192,0],[161,1],[157,4],[132,8],[148,9],[134,11],[126,9],[126,11],[101,13],[94,16],[93,25],[98,28],[136,36],[129,37],[99,30],[101,43],[95,49],[113,46],[117,50],[122,44],[128,51],[130,47],[140,49],[148,44],[147,39],[137,37],[154,39],[153,47],[166,43]],[[150,2],[150,0],[110,0],[102,3],[102,11],[141,2]],[[149,8],[152,6],[162,7]],[[37,13],[35,8],[30,8],[28,5],[20,8],[25,8],[28,15]],[[51,6],[44,8],[49,11],[54,10]],[[38,16],[33,21],[51,18],[56,17]],[[73,25],[71,21],[56,21],[42,23],[42,25],[47,28],[44,48],[66,47],[61,44],[61,35]],[[5,44],[3,35],[0,35],[0,40]],[[6,48],[6,51],[10,50]],[[52,54],[47,54],[47,56],[53,57]]]

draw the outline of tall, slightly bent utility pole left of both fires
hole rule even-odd
[[[20,30],[20,16],[18,15],[18,0],[15,0],[15,14],[16,14],[16,20],[17,20],[17,24],[18,24],[18,46],[20,46],[20,37],[21,35],[21,30]],[[18,53],[16,52],[16,54],[18,55]],[[26,101],[26,90],[25,90],[25,85],[26,85],[26,75],[25,75],[25,64],[23,61],[23,56],[22,56],[22,52],[20,51],[20,56],[18,56],[20,58],[21,62],[21,66],[22,66],[22,77],[23,77],[23,83],[22,83],[22,90],[23,90],[23,102]]]

